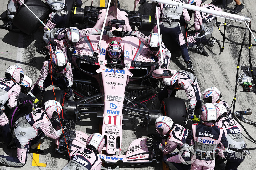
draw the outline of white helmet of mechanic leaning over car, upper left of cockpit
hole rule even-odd
[[[66,41],[69,47],[75,47],[81,40],[81,33],[78,28],[70,27],[65,33]]]

